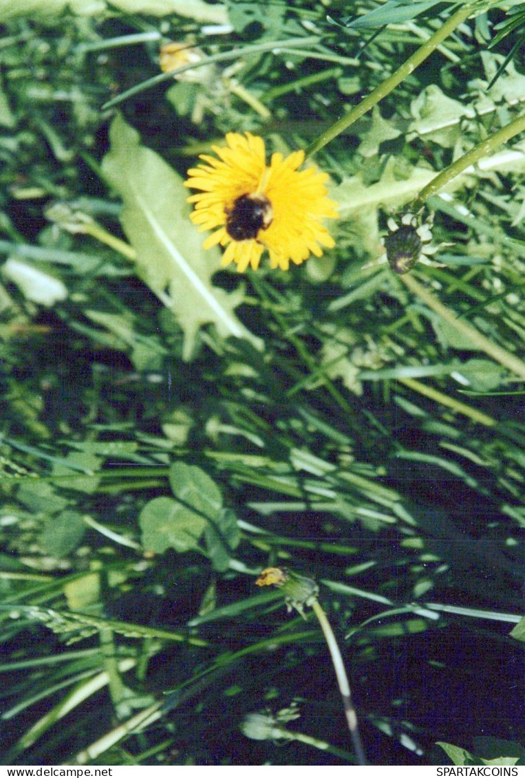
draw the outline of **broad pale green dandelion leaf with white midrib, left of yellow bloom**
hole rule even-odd
[[[233,314],[243,289],[226,293],[212,285],[220,253],[203,249],[203,238],[189,219],[182,178],[140,144],[138,133],[120,115],[111,124],[110,144],[103,176],[122,198],[121,223],[137,252],[138,275],[184,331],[183,358],[191,359],[204,324],[215,324],[225,338],[250,338],[260,345]]]

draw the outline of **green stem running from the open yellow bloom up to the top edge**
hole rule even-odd
[[[334,138],[337,138],[337,136],[350,127],[351,124],[354,124],[354,122],[361,118],[363,114],[366,114],[371,108],[379,103],[380,100],[383,100],[383,97],[386,97],[387,94],[398,86],[398,84],[408,78],[408,75],[411,75],[411,73],[415,71],[415,68],[417,68],[418,65],[421,65],[421,63],[432,54],[432,51],[434,51],[446,37],[453,33],[453,31],[471,15],[472,10],[471,3],[461,5],[460,9],[450,16],[450,19],[447,19],[443,26],[439,27],[439,30],[436,30],[432,37],[429,37],[429,40],[425,41],[425,43],[418,48],[418,51],[415,51],[414,54],[401,65],[401,68],[397,68],[386,81],[383,81],[379,86],[376,86],[376,89],[374,89],[369,96],[365,97],[359,105],[354,106],[348,111],[348,114],[345,114],[345,116],[332,124],[330,128],[322,132],[319,138],[308,146],[305,156],[312,156],[312,154],[315,154],[319,149],[322,149],[323,146],[333,141]]]

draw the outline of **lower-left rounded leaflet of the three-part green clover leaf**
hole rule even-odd
[[[144,548],[163,554],[168,548],[180,553],[196,550],[207,521],[171,497],[155,497],[142,508],[138,523]]]

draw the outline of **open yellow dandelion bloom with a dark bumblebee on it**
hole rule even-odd
[[[310,254],[320,257],[321,246],[331,248],[334,240],[323,219],[337,216],[335,203],[327,198],[327,173],[317,167],[297,170],[304,152],[271,156],[266,164],[264,141],[246,132],[229,132],[226,146],[212,146],[219,157],[202,154],[205,164],[188,170],[185,186],[200,189],[191,195],[191,220],[200,230],[218,230],[205,240],[205,248],[226,247],[222,265],[236,262],[244,272],[248,265],[257,270],[264,248],[271,268],[289,269]]]

